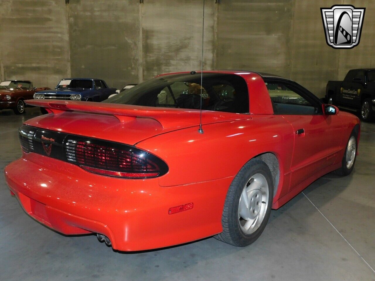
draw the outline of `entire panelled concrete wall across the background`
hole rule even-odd
[[[201,0],[0,0],[0,78],[54,87],[68,76],[116,88],[200,69]],[[360,45],[327,46],[320,7],[366,7]],[[258,70],[322,97],[328,80],[372,67],[375,0],[205,1],[204,69]]]

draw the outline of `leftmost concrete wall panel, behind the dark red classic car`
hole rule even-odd
[[[70,76],[68,20],[61,0],[0,0],[0,78],[55,87]]]

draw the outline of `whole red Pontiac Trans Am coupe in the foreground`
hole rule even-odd
[[[5,178],[31,217],[120,251],[254,242],[320,176],[352,172],[357,117],[279,76],[160,75],[102,103],[28,100]],[[202,100],[202,102],[201,102]],[[202,105],[202,130],[199,109]]]

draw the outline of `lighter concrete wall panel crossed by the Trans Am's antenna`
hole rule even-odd
[[[213,68],[214,1],[206,1],[204,66]],[[202,0],[145,0],[142,6],[143,79],[201,69]]]

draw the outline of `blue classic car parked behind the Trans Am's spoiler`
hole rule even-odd
[[[101,102],[116,93],[115,88],[108,88],[101,79],[65,78],[54,90],[39,91],[34,99],[84,100]]]

